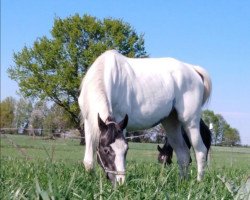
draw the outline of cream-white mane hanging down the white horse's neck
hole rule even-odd
[[[107,53],[107,52],[106,52]],[[104,54],[106,54],[104,53]],[[110,115],[104,84],[105,56],[102,54],[91,65],[80,85],[80,96],[78,99],[81,107],[81,124],[87,119],[92,133],[99,136],[97,115],[105,121]],[[90,106],[90,104],[95,106]],[[96,137],[98,140],[98,137]]]

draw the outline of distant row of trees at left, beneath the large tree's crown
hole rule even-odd
[[[0,128],[7,128],[5,133],[26,134],[29,129],[36,133],[36,129],[40,129],[37,134],[50,135],[75,128],[68,112],[57,104],[48,106],[46,101],[38,101],[32,105],[28,99],[15,100],[13,97],[7,97],[0,105]]]

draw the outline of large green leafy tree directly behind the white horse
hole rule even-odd
[[[108,49],[129,57],[147,56],[143,35],[122,20],[77,14],[56,18],[51,35],[51,39],[41,37],[33,47],[14,53],[15,65],[8,73],[25,97],[47,99],[64,108],[84,136],[77,99],[88,67]]]

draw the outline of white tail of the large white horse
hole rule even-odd
[[[193,66],[194,70],[201,76],[204,84],[204,94],[203,94],[203,100],[202,105],[204,105],[210,98],[211,92],[212,92],[212,81],[205,69],[199,66]]]

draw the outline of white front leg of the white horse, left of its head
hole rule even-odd
[[[92,134],[89,129],[88,121],[84,121],[84,130],[85,130],[85,155],[84,155],[84,166],[87,171],[93,169],[94,166],[94,141]]]

